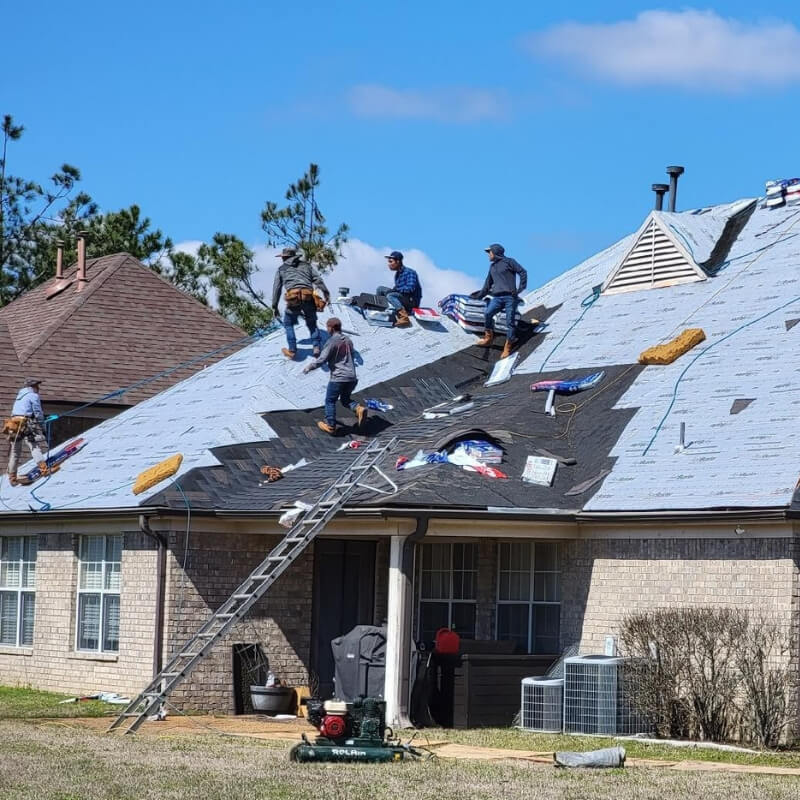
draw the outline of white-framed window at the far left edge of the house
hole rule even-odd
[[[0,536],[0,645],[33,647],[36,536]]]

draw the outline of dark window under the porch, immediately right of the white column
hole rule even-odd
[[[477,544],[424,544],[419,589],[420,639],[430,641],[439,628],[475,638]]]

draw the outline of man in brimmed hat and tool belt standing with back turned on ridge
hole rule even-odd
[[[311,343],[314,348],[312,353],[316,357],[319,355],[321,338],[317,328],[317,311],[322,311],[330,302],[331,293],[317,268],[303,261],[303,257],[298,255],[294,247],[284,247],[277,257],[282,258],[283,263],[278,267],[278,271],[275,273],[275,282],[272,284],[272,311],[278,317],[278,301],[281,297],[281,289],[283,289],[285,292],[283,301],[286,304],[283,311],[286,347],[282,347],[281,352],[286,358],[294,358],[297,355],[297,337],[294,335],[294,326],[297,325],[298,318],[302,316],[311,335]],[[314,287],[322,292],[325,298],[324,302],[322,298],[314,294]]]

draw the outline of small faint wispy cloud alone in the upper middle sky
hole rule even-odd
[[[347,103],[359,117],[382,119],[469,123],[505,119],[511,113],[505,90],[472,87],[394,89],[362,84],[350,89]]]

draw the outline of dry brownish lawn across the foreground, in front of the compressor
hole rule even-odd
[[[2,800],[796,800],[800,778],[529,762],[294,764],[289,745],[0,720]]]

